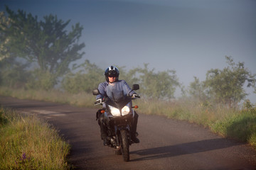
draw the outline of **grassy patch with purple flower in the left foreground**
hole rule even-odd
[[[69,145],[35,115],[0,108],[0,169],[69,169]]]

